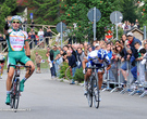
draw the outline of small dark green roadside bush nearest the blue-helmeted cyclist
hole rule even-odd
[[[83,68],[76,68],[75,76],[73,77],[73,79],[78,82],[84,81]]]

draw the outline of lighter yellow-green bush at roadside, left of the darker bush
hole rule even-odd
[[[68,79],[72,79],[70,69],[66,71],[66,69],[69,68],[69,64],[68,63],[63,63],[60,67],[60,76],[59,78],[68,78]],[[66,71],[66,76],[65,76],[65,71]]]

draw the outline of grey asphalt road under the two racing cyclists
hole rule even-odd
[[[147,119],[147,96],[101,92],[96,109],[88,107],[82,87],[52,80],[50,74],[34,74],[27,80],[14,113],[4,104],[5,78],[0,79],[0,119]]]

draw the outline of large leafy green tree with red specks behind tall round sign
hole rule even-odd
[[[71,28],[72,35],[75,35],[77,41],[85,41],[87,35],[93,38],[93,22],[87,17],[88,10],[96,6],[101,12],[101,19],[97,23],[97,38],[105,36],[105,27],[110,26],[110,14],[117,10],[113,0],[64,0],[60,6],[64,13],[61,21]],[[73,28],[76,23],[77,27]]]

